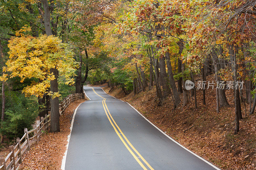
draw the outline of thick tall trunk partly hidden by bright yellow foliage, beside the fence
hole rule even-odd
[[[44,28],[47,36],[52,35],[50,25],[50,6],[47,0],[41,0],[44,7]],[[51,68],[50,73],[54,75],[54,80],[51,80],[51,92],[58,92],[58,70]],[[60,131],[60,113],[59,113],[59,97],[51,98],[51,132]]]

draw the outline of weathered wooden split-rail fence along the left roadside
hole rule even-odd
[[[60,115],[64,112],[68,105],[78,99],[84,99],[84,93],[70,94],[64,98],[59,104]],[[17,138],[17,144],[15,146],[9,146],[9,154],[6,158],[0,158],[0,170],[18,170],[20,164],[24,159],[24,153],[30,150],[30,147],[34,144],[38,144],[41,136],[45,131],[49,130],[51,126],[51,112],[45,117],[40,117],[40,121],[36,121],[33,125],[33,129],[24,129],[24,135],[21,138]]]

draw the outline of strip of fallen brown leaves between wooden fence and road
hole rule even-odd
[[[66,150],[70,124],[74,110],[85,99],[76,100],[65,109],[60,116],[60,132],[46,132],[39,141],[38,145],[33,145],[25,154],[25,159],[20,165],[22,170],[59,170],[62,157]]]

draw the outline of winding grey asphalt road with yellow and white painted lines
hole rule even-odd
[[[99,87],[76,110],[66,170],[219,169],[156,128],[128,103]]]

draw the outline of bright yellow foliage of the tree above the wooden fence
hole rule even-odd
[[[22,83],[26,78],[36,78],[31,85],[22,92],[28,95],[43,96],[50,88],[50,81],[55,77],[50,73],[51,68],[57,68],[59,76],[65,77],[66,84],[74,84],[75,67],[78,65],[67,44],[61,43],[58,37],[40,35],[39,37],[26,36],[17,33],[9,41],[9,60],[3,68],[2,80],[20,77]],[[59,93],[49,93],[53,98]]]

